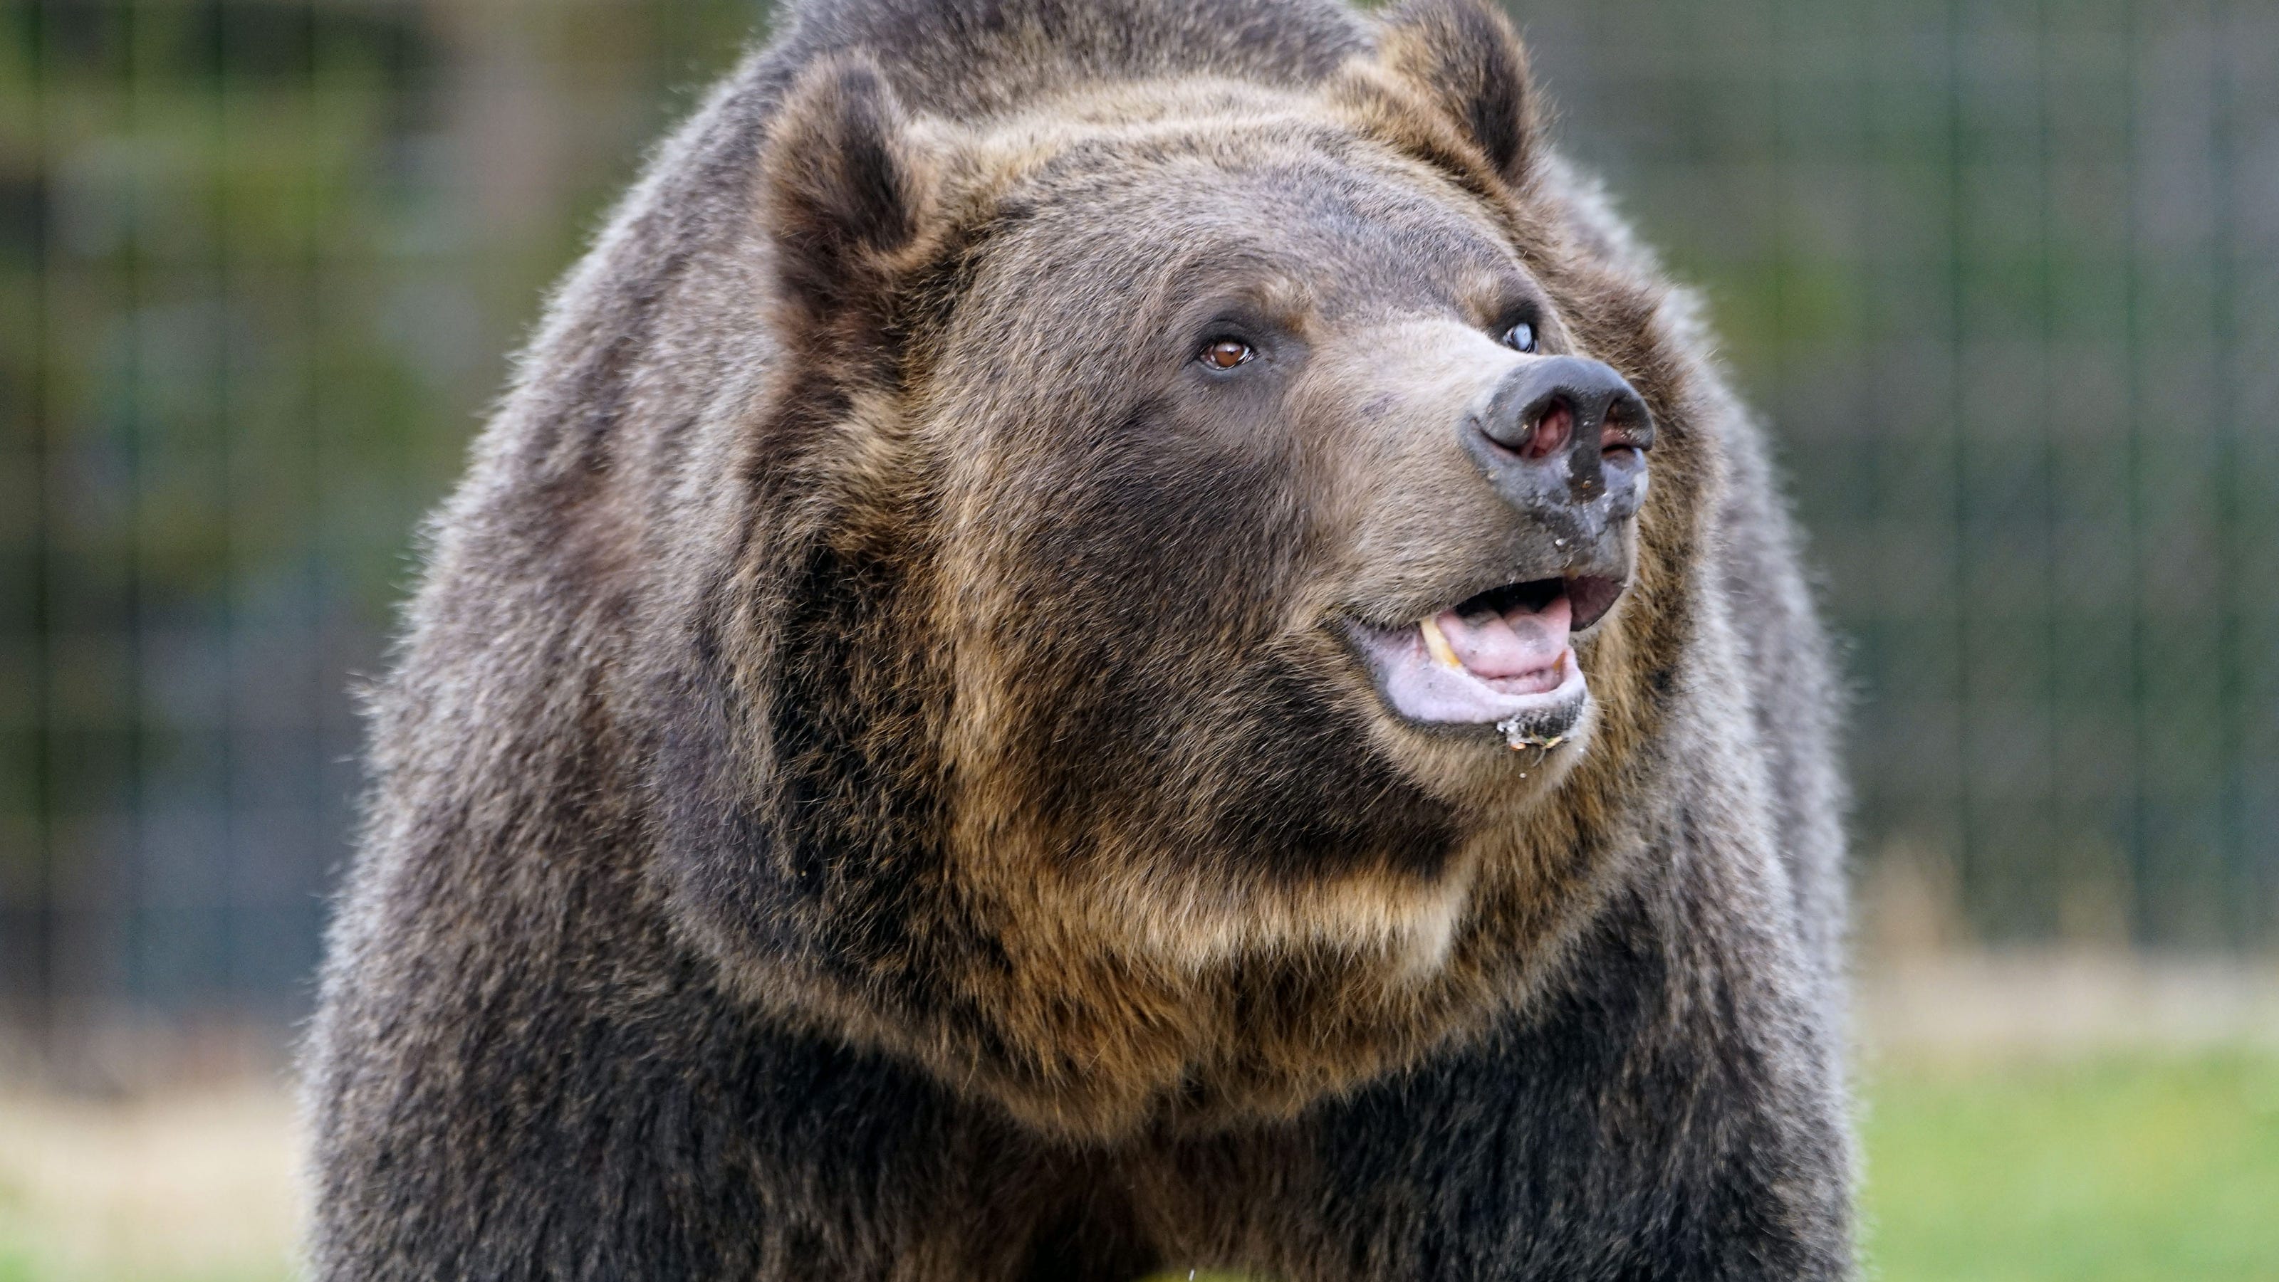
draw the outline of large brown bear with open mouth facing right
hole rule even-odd
[[[1832,683],[1477,0],[816,0],[435,519],[315,1273],[1851,1273]]]

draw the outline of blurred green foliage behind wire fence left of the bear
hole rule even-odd
[[[763,11],[0,7],[0,1009],[292,1016],[412,528]]]

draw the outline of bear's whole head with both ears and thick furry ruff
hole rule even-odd
[[[1714,471],[1552,164],[1470,0],[1317,84],[807,68],[773,373],[645,647],[738,993],[1094,1136],[1525,997],[1641,822]]]

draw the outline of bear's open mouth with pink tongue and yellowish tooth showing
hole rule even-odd
[[[1386,704],[1404,720],[1493,722],[1518,745],[1573,726],[1586,685],[1570,642],[1620,594],[1614,578],[1531,578],[1406,626],[1351,624],[1351,633]]]

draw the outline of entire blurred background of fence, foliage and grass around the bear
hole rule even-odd
[[[1871,1266],[2279,1277],[2279,0],[1513,16],[1848,644]],[[763,25],[0,0],[0,1282],[289,1273],[412,528]]]

